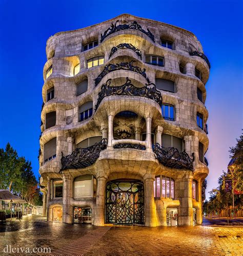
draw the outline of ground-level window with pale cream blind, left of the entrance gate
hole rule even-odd
[[[96,196],[96,178],[92,175],[83,175],[74,179],[73,197],[86,198]]]

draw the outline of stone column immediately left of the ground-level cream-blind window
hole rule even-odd
[[[73,220],[73,207],[70,203],[70,198],[73,197],[72,182],[71,175],[63,175],[63,223],[68,224],[72,224]]]

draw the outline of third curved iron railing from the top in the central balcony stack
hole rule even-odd
[[[148,83],[150,83],[149,78],[146,75],[146,69],[141,69],[138,66],[134,66],[133,65],[134,61],[130,61],[130,62],[121,62],[121,63],[116,63],[116,64],[108,64],[104,67],[104,69],[102,70],[102,72],[98,75],[97,78],[94,79],[95,82],[95,86],[98,85],[98,83],[110,72],[115,71],[115,70],[129,70],[129,71],[134,71],[140,75],[142,75],[147,81]]]

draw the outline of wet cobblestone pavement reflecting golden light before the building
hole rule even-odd
[[[7,245],[49,247],[54,255],[242,255],[242,237],[240,227],[94,227],[24,216],[0,223],[0,255]]]

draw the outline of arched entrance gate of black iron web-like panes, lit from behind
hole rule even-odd
[[[144,224],[144,185],[138,180],[113,180],[106,186],[106,223]]]

